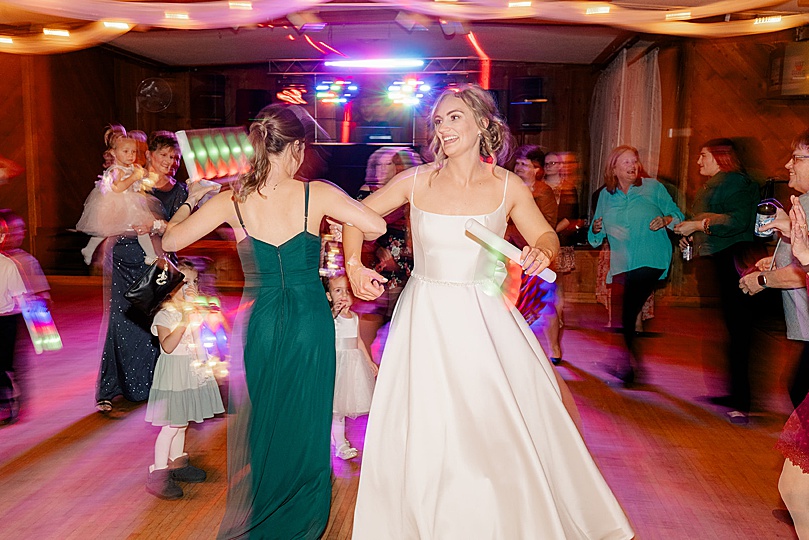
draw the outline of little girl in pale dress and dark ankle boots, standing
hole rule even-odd
[[[178,481],[196,483],[206,478],[205,471],[189,464],[184,451],[188,422],[199,423],[225,412],[199,337],[203,313],[193,303],[198,273],[188,259],[182,259],[177,266],[185,276],[183,285],[152,322],[152,334],[160,340],[160,357],[146,405],[146,421],[161,426],[146,491],[169,500],[183,496]]]

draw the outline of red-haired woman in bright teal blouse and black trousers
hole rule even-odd
[[[640,366],[635,319],[671,264],[666,227],[683,220],[666,188],[644,176],[637,149],[619,146],[612,151],[604,171],[605,189],[587,235],[593,247],[606,237],[612,250],[607,283],[612,283],[612,305],[621,313],[627,349],[612,374],[625,385],[635,381],[635,368]]]

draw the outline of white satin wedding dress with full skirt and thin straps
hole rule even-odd
[[[415,181],[419,180],[418,172]],[[415,266],[393,315],[365,437],[355,540],[624,539],[633,532],[470,217],[411,196]]]

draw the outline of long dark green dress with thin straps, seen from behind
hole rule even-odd
[[[228,427],[229,490],[220,538],[319,538],[331,502],[334,323],[318,274],[320,239],[303,230],[275,246],[247,238],[244,380],[247,403]],[[246,445],[246,446],[243,446]],[[235,455],[241,455],[243,463]]]

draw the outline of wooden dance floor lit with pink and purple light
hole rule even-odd
[[[59,286],[54,301],[65,347],[32,355],[21,421],[0,428],[0,538],[213,538],[225,502],[224,418],[189,428],[187,449],[207,482],[186,484],[179,501],[147,494],[156,429],[144,422],[143,405],[125,403],[109,417],[94,412],[100,289]],[[235,302],[226,298],[226,306]],[[790,410],[783,386],[794,348],[777,329],[757,333],[759,412],[749,426],[733,426],[704,400],[718,381],[711,369],[723,340],[718,313],[656,311],[647,326],[654,336],[643,340],[650,384],[605,384],[620,336],[603,328],[606,312],[596,305],[568,306],[566,362],[558,368],[637,537],[795,538],[773,514],[783,508],[773,445]],[[364,420],[349,420],[347,430],[362,448]],[[325,538],[351,537],[361,457],[334,462]]]

